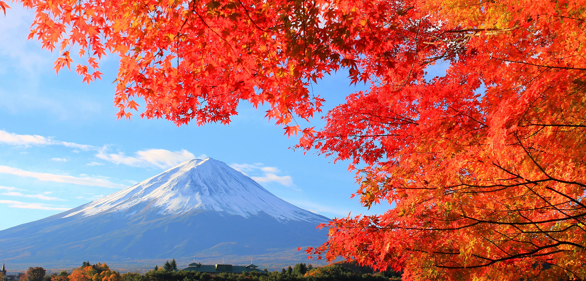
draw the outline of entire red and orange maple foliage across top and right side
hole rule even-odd
[[[585,0],[20,1],[57,72],[79,57],[89,83],[120,56],[118,118],[227,124],[263,103],[298,148],[349,160],[360,201],[391,208],[336,218],[314,257],[406,280],[586,279]],[[370,88],[319,131],[295,125],[332,71]]]

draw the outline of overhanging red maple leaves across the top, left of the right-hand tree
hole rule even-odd
[[[306,36],[304,25],[318,28],[321,11],[307,2],[22,2],[36,9],[29,37],[63,52],[56,71],[70,67],[70,50],[77,48],[85,63],[76,71],[89,83],[100,78],[101,56],[120,56],[118,118],[130,118],[141,98],[147,118],[228,123],[246,100],[255,107],[268,102],[268,118],[287,125],[319,111],[323,100],[311,97],[306,85],[339,67],[340,59],[319,46],[327,35]],[[289,135],[301,130],[286,129]]]

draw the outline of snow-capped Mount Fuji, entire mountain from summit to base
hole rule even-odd
[[[304,256],[295,252],[297,246],[325,242],[326,231],[316,225],[328,220],[278,198],[226,163],[206,158],[2,230],[0,249],[6,262],[23,268],[87,260],[131,265],[194,256],[202,262],[254,258],[270,267]]]

